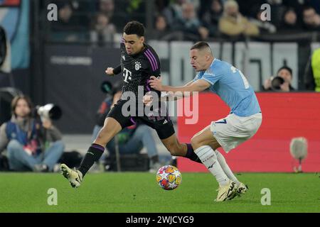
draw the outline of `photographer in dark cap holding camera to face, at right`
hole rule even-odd
[[[287,66],[279,68],[276,77],[270,77],[265,80],[263,84],[263,90],[274,92],[292,92],[294,87],[292,82],[292,69]]]

